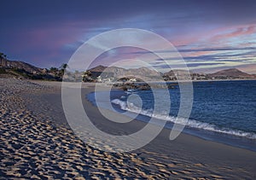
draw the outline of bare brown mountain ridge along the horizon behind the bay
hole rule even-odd
[[[29,63],[26,63],[24,61],[9,61],[5,58],[0,58],[0,67],[3,69],[9,69],[9,68],[15,68],[15,69],[22,69],[26,71],[27,73],[34,73],[34,74],[40,74],[44,73],[44,68],[35,67]],[[45,70],[47,72],[47,70]],[[152,78],[159,78],[163,77],[166,80],[172,80],[177,75],[183,76],[186,74],[184,73],[184,70],[170,70],[167,73],[159,73],[157,71],[154,71],[152,69],[149,69],[148,67],[139,67],[139,68],[130,68],[125,69],[123,67],[105,67],[105,66],[97,66],[92,67],[89,69],[90,72],[96,72],[97,74],[106,72],[106,73],[113,73],[115,77],[121,78],[125,76],[137,76],[138,78],[145,78],[152,79]],[[205,78],[256,78],[256,74],[249,74],[242,72],[241,70],[237,68],[229,68],[220,70],[215,73],[193,73],[190,72],[191,76],[195,77],[205,77]],[[202,75],[203,74],[203,75]]]

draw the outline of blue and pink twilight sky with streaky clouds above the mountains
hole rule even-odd
[[[2,0],[1,7],[0,51],[10,60],[37,67],[60,67],[79,46],[102,32],[138,28],[166,38],[191,71],[236,67],[256,73],[254,0]],[[143,44],[153,43],[143,39]],[[103,53],[92,66],[126,59],[125,66],[132,68],[139,66],[134,59],[144,58],[149,66],[167,71],[164,62],[172,64],[176,57],[167,56],[161,44],[154,46],[166,55],[164,61],[154,52],[124,47]]]

